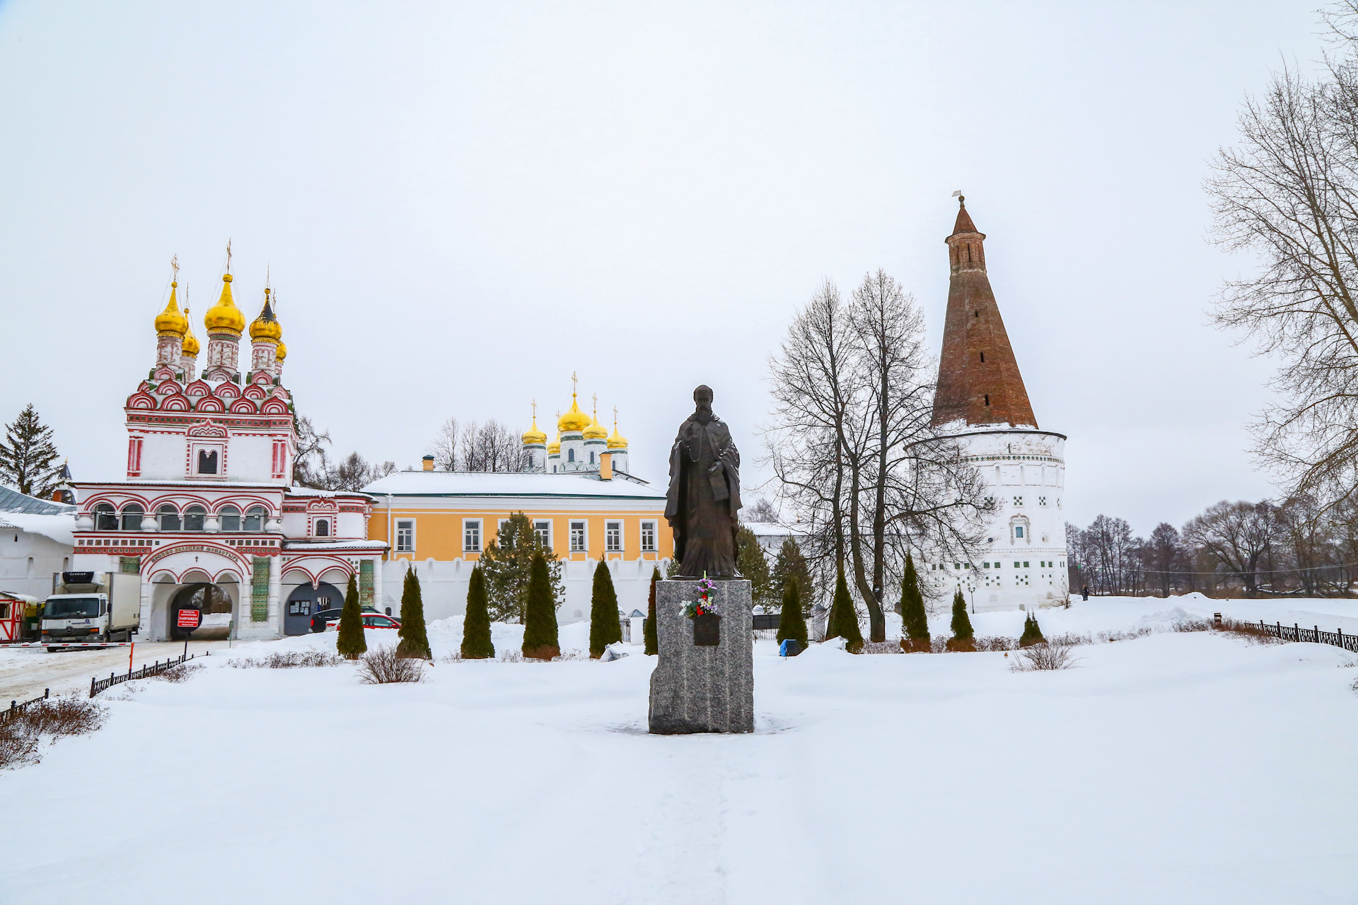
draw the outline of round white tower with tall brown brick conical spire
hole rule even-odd
[[[948,312],[933,425],[963,446],[994,505],[980,562],[929,556],[938,593],[960,588],[972,612],[1066,602],[1065,434],[1039,430],[986,273],[986,235],[959,198],[948,243]]]

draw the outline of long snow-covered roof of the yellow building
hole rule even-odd
[[[542,472],[507,474],[483,471],[398,471],[363,488],[382,497],[604,497],[664,499],[663,493],[623,480],[599,480],[584,475]]]

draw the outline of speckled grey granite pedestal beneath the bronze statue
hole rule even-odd
[[[750,582],[717,581],[712,602],[721,615],[717,643],[710,627],[683,615],[698,598],[697,581],[656,583],[656,640],[660,662],[650,673],[650,731],[752,733],[755,730],[754,631]]]

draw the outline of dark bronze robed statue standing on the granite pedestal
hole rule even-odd
[[[712,414],[712,388],[698,387],[693,400],[698,406],[669,449],[665,518],[675,535],[676,577],[736,578],[740,452]]]

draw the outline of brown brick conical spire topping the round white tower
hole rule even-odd
[[[1038,426],[1019,362],[986,275],[986,236],[959,198],[957,224],[948,243],[952,278],[938,360],[933,423]]]

